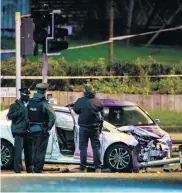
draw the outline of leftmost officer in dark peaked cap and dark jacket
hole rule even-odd
[[[22,169],[22,150],[25,154],[25,165],[28,173],[32,172],[31,155],[29,151],[28,138],[28,112],[27,105],[29,102],[30,90],[28,88],[21,88],[20,99],[10,106],[7,114],[8,119],[12,120],[11,132],[15,139],[14,141],[14,172],[21,173]]]

